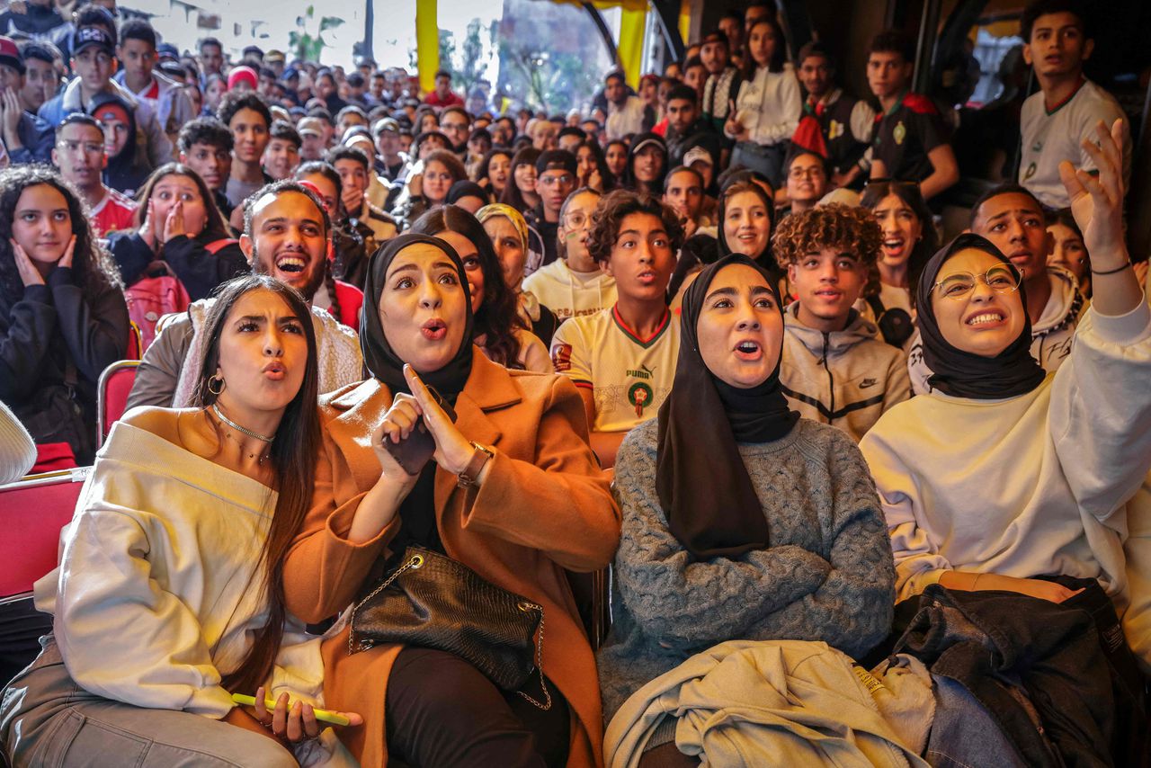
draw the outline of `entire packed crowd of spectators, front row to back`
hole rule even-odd
[[[0,482],[91,465],[0,604],[0,756],[1146,765],[1151,305],[1090,26],[1024,10],[1019,177],[940,242],[893,30],[856,98],[753,2],[549,115],[0,14]]]

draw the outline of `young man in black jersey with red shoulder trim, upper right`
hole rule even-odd
[[[879,100],[872,145],[871,178],[920,183],[931,199],[959,181],[955,153],[931,100],[912,93],[913,48],[900,32],[879,32],[871,40],[867,81]]]

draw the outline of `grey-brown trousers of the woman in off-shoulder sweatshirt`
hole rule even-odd
[[[201,715],[89,693],[51,637],[5,689],[0,744],[13,766],[44,768],[294,768],[273,738]]]

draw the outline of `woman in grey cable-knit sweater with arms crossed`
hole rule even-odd
[[[891,628],[875,485],[851,438],[787,408],[770,277],[738,254],[711,265],[687,292],[681,334],[672,394],[616,463],[623,538],[597,660],[607,721],[726,640],[822,640],[861,656]]]

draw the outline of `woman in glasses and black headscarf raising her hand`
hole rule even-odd
[[[1096,297],[1058,372],[1031,357],[1022,277],[991,242],[961,235],[923,269],[932,391],[860,443],[900,598],[938,583],[1062,602],[1091,585],[1127,603],[1122,507],[1151,465],[1151,310],[1123,244],[1120,150],[1102,123],[1099,136],[1103,149],[1087,150],[1098,181],[1062,169]]]

